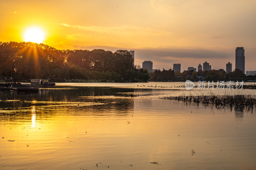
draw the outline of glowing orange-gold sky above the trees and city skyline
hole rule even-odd
[[[25,41],[30,27],[58,49],[135,50],[135,64],[181,70],[205,61],[232,63],[245,49],[245,71],[256,70],[256,1],[7,1],[2,0],[0,41]]]

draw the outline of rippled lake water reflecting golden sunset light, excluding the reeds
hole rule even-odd
[[[38,93],[1,92],[0,169],[256,169],[254,110],[161,99],[256,90],[182,85],[56,83]]]

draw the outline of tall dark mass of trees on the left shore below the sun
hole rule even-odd
[[[127,50],[58,50],[33,42],[0,42],[0,79],[49,78],[147,81],[146,70],[133,67]]]

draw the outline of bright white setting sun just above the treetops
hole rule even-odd
[[[44,41],[44,31],[37,27],[28,28],[24,33],[26,42],[42,43]]]

